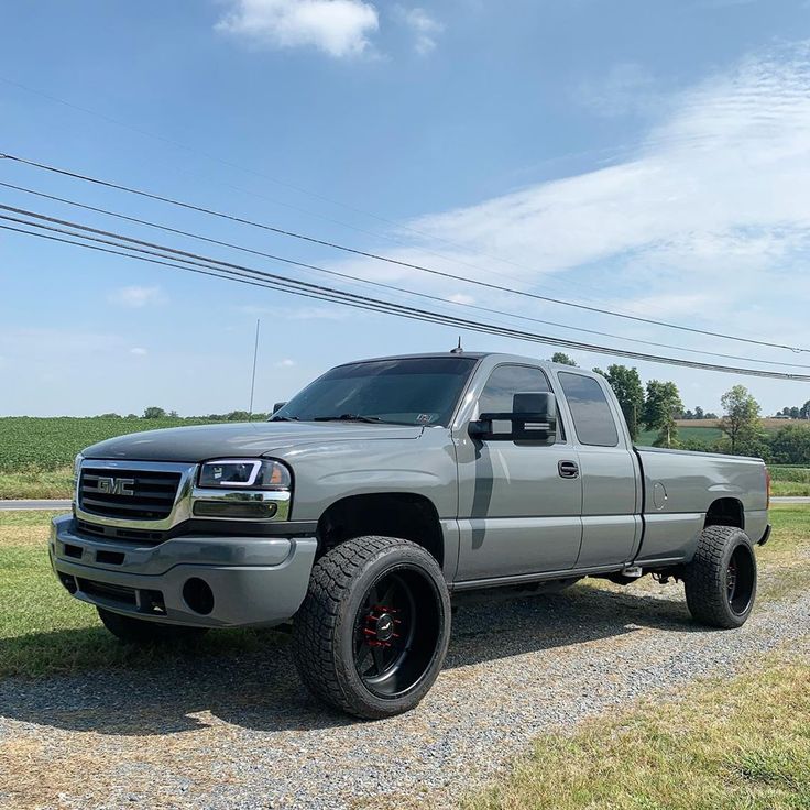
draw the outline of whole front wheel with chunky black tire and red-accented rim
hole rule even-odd
[[[420,546],[392,537],[358,537],[324,555],[293,623],[306,687],[368,719],[413,709],[436,680],[449,638],[441,569]]]

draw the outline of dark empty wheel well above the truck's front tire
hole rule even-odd
[[[423,495],[384,493],[336,501],[318,521],[318,554],[363,535],[411,540],[427,549],[440,566],[444,563],[439,515]]]

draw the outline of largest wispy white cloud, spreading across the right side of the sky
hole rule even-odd
[[[810,44],[755,54],[670,96],[657,118],[613,165],[418,218],[407,223],[419,234],[414,243],[388,253],[555,298],[808,346],[803,302],[810,297],[810,276],[800,269],[810,261]],[[404,267],[357,260],[336,266],[448,300],[475,294],[456,280]],[[523,325],[544,335],[670,355],[680,349],[725,352],[747,358],[747,363],[732,363],[741,366],[756,366],[757,358],[810,365],[808,354],[664,330],[496,291],[477,303],[573,330]],[[645,349],[576,331],[583,328],[677,348]],[[648,369],[674,379],[698,373]],[[700,379],[715,386],[718,396],[730,384],[722,375]]]

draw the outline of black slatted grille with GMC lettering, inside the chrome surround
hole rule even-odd
[[[162,521],[172,514],[179,482],[179,472],[83,467],[79,506],[105,517]]]

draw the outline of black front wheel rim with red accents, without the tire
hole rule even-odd
[[[354,622],[354,668],[369,691],[391,699],[414,689],[430,669],[441,631],[435,583],[399,567],[365,592]]]

